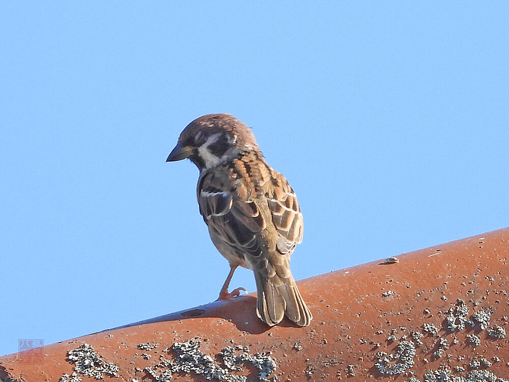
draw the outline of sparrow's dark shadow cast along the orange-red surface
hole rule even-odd
[[[129,328],[130,326],[145,325],[155,322],[172,322],[191,318],[215,317],[232,322],[241,332],[246,332],[249,334],[261,334],[270,330],[271,326],[264,323],[257,316],[256,301],[257,299],[255,296],[244,294],[242,296],[232,297],[227,300],[214,301],[209,304],[200,305],[179,312],[168,313],[162,316],[149,318],[147,320],[117,326],[117,328],[107,329],[98,333],[103,333],[115,329],[125,329]],[[277,325],[286,328],[299,328],[298,325],[286,317]]]

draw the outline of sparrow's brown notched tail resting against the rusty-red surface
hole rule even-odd
[[[277,274],[266,276],[254,272],[258,291],[257,315],[267,325],[273,326],[286,315],[299,326],[307,326],[313,319],[300,295],[293,276],[280,278]]]

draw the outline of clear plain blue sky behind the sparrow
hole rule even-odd
[[[48,3],[48,2],[46,2]],[[4,2],[0,354],[213,301],[228,263],[165,163],[253,127],[304,213],[296,279],[508,225],[507,2]],[[248,270],[232,288],[254,290]]]

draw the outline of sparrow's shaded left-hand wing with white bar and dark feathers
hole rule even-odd
[[[197,190],[200,213],[210,229],[240,254],[262,254],[260,232],[265,229],[258,206],[237,192],[235,180],[206,174]]]

